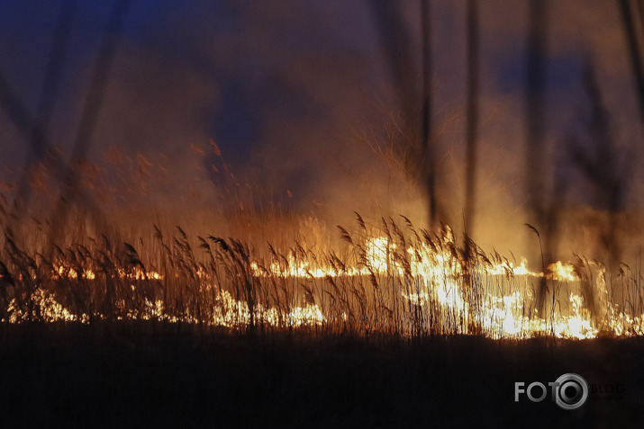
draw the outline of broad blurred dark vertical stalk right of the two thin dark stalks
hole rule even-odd
[[[528,56],[526,61],[525,125],[526,158],[525,182],[531,215],[543,226],[544,210],[544,104],[546,54],[546,0],[531,0]],[[546,243],[546,248],[549,244]],[[545,304],[545,277],[537,290],[536,309],[541,315]]]

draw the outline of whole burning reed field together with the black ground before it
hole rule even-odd
[[[581,256],[533,272],[524,259],[488,255],[471,240],[459,245],[447,226],[431,234],[404,217],[372,224],[355,216],[325,248],[152,226],[148,239],[131,240],[137,247],[102,235],[53,245],[48,257],[45,240],[27,249],[6,233],[6,421],[640,421],[639,273],[624,266],[618,301],[603,265]],[[586,403],[574,411],[516,390],[517,382],[545,386],[570,371],[588,383]],[[517,391],[523,400],[513,400]]]

